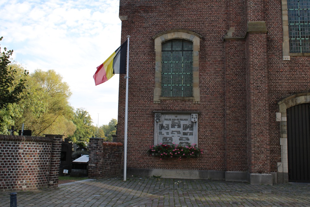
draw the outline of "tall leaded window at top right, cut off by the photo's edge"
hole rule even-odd
[[[287,0],[291,53],[309,53],[310,1]]]

